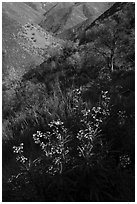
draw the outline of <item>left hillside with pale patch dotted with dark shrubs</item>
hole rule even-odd
[[[44,61],[46,50],[60,46],[61,41],[38,25],[43,10],[36,5],[37,11],[23,2],[2,4],[3,74],[15,70],[21,76],[32,63]]]

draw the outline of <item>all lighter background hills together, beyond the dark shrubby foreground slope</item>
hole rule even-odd
[[[88,18],[93,21],[110,6],[93,2],[3,2],[3,74],[18,70],[21,76],[31,63],[39,65],[49,49],[60,49],[63,43],[52,32],[62,32]]]

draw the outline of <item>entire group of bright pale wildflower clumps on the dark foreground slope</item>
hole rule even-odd
[[[75,89],[72,93],[74,102],[73,108],[80,113],[79,120],[77,120],[79,128],[76,133],[76,141],[78,143],[75,146],[75,151],[77,151],[80,158],[83,157],[88,161],[92,161],[91,158],[95,153],[95,147],[98,146],[102,148],[101,127],[104,119],[109,115],[107,108],[109,98],[107,97],[108,93],[104,92],[102,94],[104,106],[100,104],[89,109],[85,103],[81,103],[79,109],[81,91],[81,88]],[[44,161],[45,159],[49,159],[50,162],[42,166],[42,172],[52,175],[62,173],[77,159],[71,155],[74,149],[72,147],[74,138],[75,137],[72,137],[72,133],[65,126],[63,121],[60,119],[51,121],[45,132],[37,131],[33,134],[33,140],[35,144],[40,146],[42,156],[40,159],[36,159],[36,161],[31,161],[31,164],[36,164],[34,165],[35,167],[42,166],[43,158]],[[18,147],[14,146],[13,149],[14,153],[17,154],[16,160],[22,164],[25,170],[29,170],[31,165],[29,159],[23,155],[23,143]]]

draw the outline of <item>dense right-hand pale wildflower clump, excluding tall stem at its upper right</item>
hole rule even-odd
[[[83,117],[81,119],[82,129],[79,130],[77,138],[80,141],[78,146],[79,156],[90,159],[94,155],[94,141],[101,133],[100,124],[102,119],[97,117],[100,112],[100,107],[93,107],[92,110],[82,110]],[[99,140],[98,140],[99,142]]]

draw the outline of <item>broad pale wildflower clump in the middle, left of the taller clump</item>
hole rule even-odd
[[[36,144],[39,144],[44,155],[52,160],[48,173],[62,172],[63,166],[70,161],[68,142],[70,134],[61,120],[52,121],[48,124],[50,131],[42,133],[37,131],[33,134]]]

